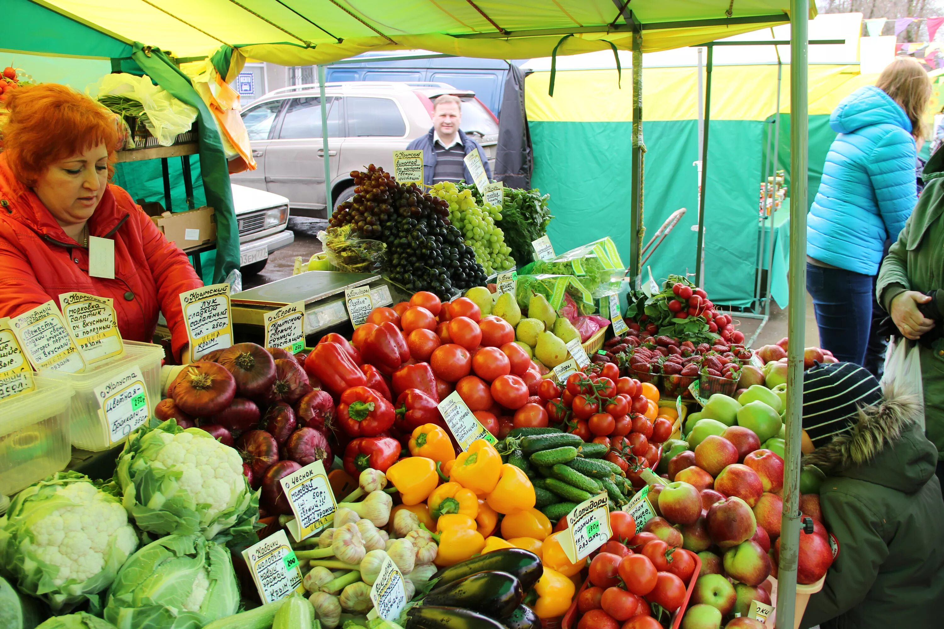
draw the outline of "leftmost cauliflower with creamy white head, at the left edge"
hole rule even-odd
[[[118,499],[76,472],[25,488],[0,518],[0,567],[56,611],[108,588],[137,547]]]

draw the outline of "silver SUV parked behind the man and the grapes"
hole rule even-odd
[[[333,207],[354,195],[351,171],[372,163],[393,169],[394,151],[430,130],[432,100],[442,94],[463,100],[462,129],[479,141],[495,172],[498,121],[474,91],[446,83],[326,83]],[[243,120],[258,168],[231,175],[233,182],[288,197],[293,216],[328,218],[319,87],[270,91],[245,109]]]

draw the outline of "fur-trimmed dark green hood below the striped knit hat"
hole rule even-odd
[[[877,406],[859,410],[850,432],[834,438],[803,457],[827,476],[848,476],[887,488],[913,493],[935,473],[937,451],[921,427],[919,398],[885,389]]]

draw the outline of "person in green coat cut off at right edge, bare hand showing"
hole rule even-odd
[[[944,485],[944,151],[921,174],[924,190],[876,283],[876,296],[909,343],[918,343],[924,419],[937,448],[937,478]]]

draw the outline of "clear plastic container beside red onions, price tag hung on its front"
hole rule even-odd
[[[111,439],[109,424],[95,399],[95,389],[138,367],[147,389],[148,417],[160,402],[160,345],[125,341],[125,354],[97,363],[81,373],[44,371],[42,375],[59,380],[76,391],[72,399],[72,444],[82,450],[99,452],[122,443],[127,437]]]

